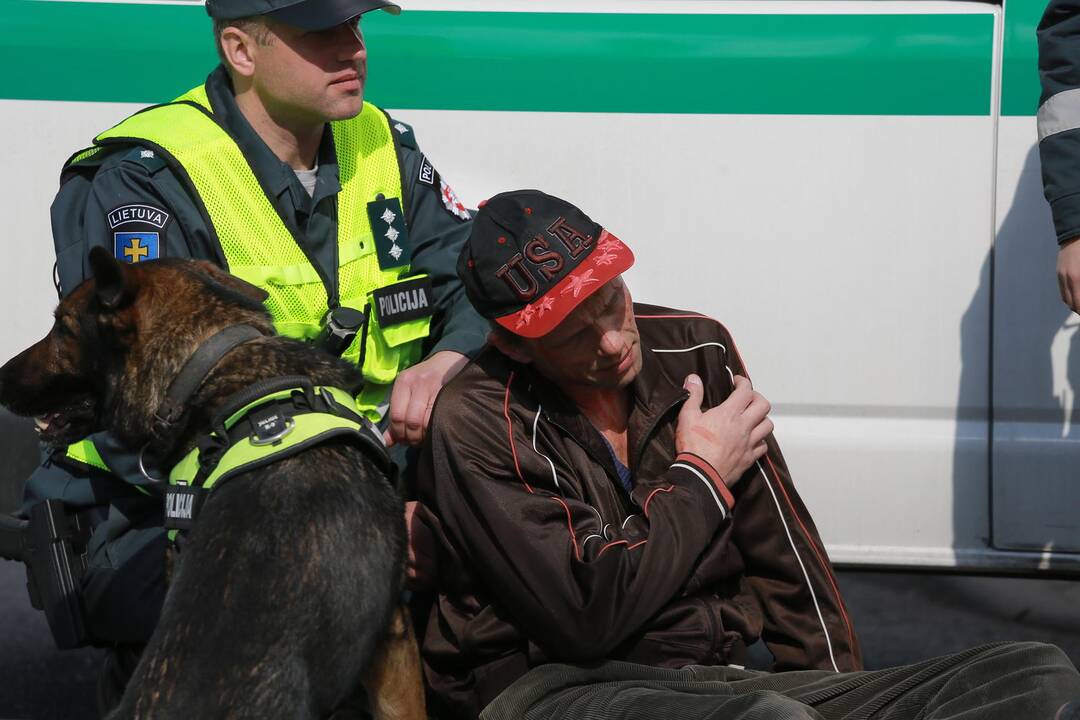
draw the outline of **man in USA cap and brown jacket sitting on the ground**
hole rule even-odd
[[[632,262],[538,191],[476,217],[458,272],[489,345],[440,395],[419,473],[440,717],[914,718],[932,699],[957,715],[918,717],[1050,720],[1076,695],[1048,646],[851,674],[768,403],[718,323],[632,304]],[[733,665],[758,638],[801,671]]]

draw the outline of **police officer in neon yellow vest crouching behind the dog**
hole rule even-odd
[[[390,441],[415,446],[486,323],[455,273],[469,210],[413,130],[364,101],[360,18],[377,9],[400,12],[388,0],[207,0],[220,66],[77,153],[52,220],[62,295],[89,275],[94,246],[129,262],[214,261],[270,294],[280,332],[359,363],[361,407]],[[164,594],[161,501],[147,481],[137,453],[107,435],[50,453],[27,481],[25,508],[94,508],[86,626],[117,650],[104,705]]]

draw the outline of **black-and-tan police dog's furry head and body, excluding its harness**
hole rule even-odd
[[[165,443],[171,467],[230,395],[307,376],[355,391],[356,368],[273,335],[266,293],[212,263],[133,266],[91,255],[93,276],[52,330],[0,368],[0,404],[64,446],[107,430],[150,440],[154,411],[195,349],[231,325],[266,337],[210,370]],[[424,718],[401,602],[401,498],[354,444],[315,446],[215,489],[178,554],[158,627],[110,718],[346,717],[361,685],[376,718]]]

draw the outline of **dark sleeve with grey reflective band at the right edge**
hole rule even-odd
[[[1038,37],[1042,184],[1063,243],[1080,235],[1080,0],[1051,0]]]

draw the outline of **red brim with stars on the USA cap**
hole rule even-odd
[[[600,231],[596,247],[581,264],[553,288],[521,310],[496,317],[502,327],[523,338],[540,338],[555,329],[575,308],[613,277],[630,270],[634,254],[622,241]]]

